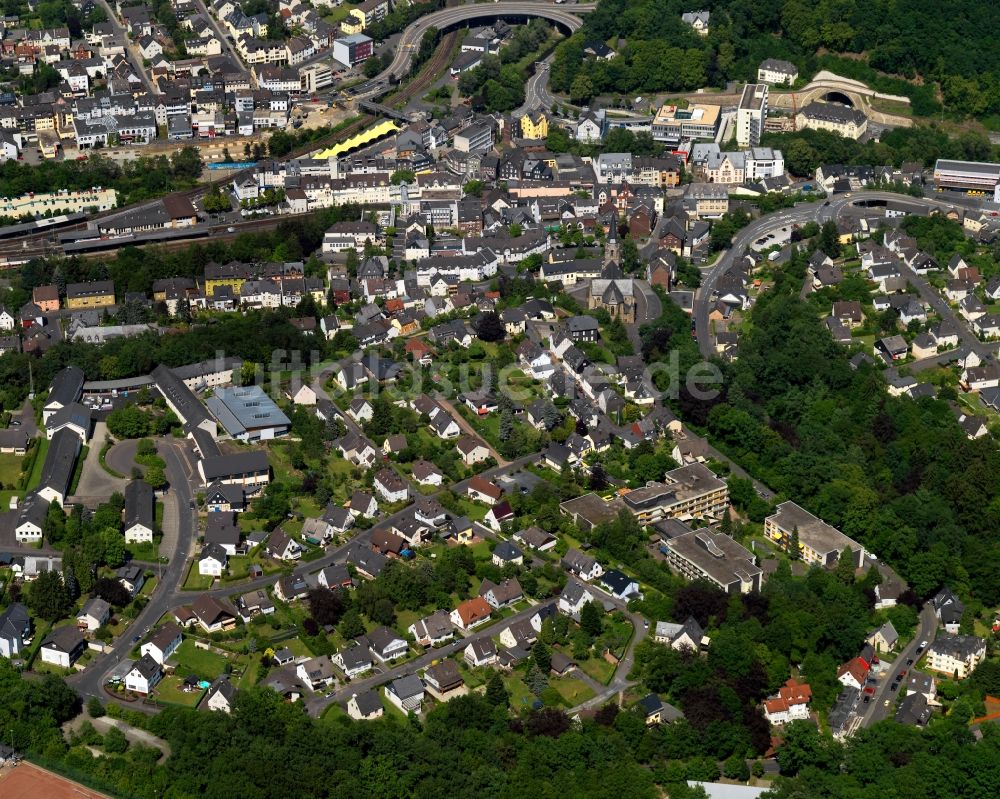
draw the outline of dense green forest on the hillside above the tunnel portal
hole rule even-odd
[[[560,46],[552,88],[586,101],[602,92],[722,87],[754,78],[765,58],[784,58],[803,77],[832,69],[905,94],[920,115],[941,111],[934,82],[947,112],[1000,113],[1000,7],[991,0],[716,0],[698,6],[712,12],[704,38],[681,21],[692,8],[682,0],[601,0]],[[584,66],[592,39],[611,42],[620,57]]]

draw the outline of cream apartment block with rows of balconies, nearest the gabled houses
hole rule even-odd
[[[717,519],[729,505],[729,486],[702,463],[667,472],[622,499],[641,524],[661,519]]]

